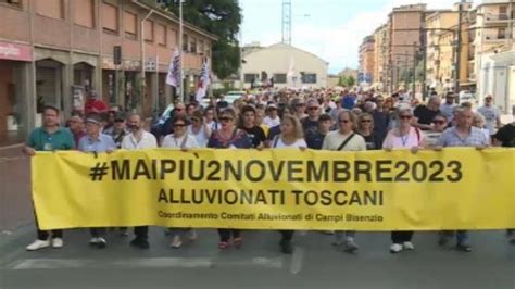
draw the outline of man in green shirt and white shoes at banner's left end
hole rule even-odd
[[[73,150],[75,148],[72,134],[59,126],[59,109],[46,106],[43,110],[43,125],[34,129],[28,137],[24,148],[26,154],[34,156],[37,151]],[[36,215],[36,214],[35,214]],[[36,215],[36,226],[38,227],[38,239],[27,246],[28,251],[36,251],[50,246],[49,233],[40,230]],[[52,230],[52,247],[63,247],[63,230]]]

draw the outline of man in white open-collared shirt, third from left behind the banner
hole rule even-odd
[[[154,149],[158,148],[158,140],[155,137],[143,130],[143,122],[141,115],[133,113],[127,118],[127,129],[129,134],[122,140],[122,149],[124,150],[142,150],[142,149]],[[139,226],[134,228],[136,238],[130,241],[130,246],[138,247],[140,249],[149,249],[150,244],[148,241],[149,227]]]

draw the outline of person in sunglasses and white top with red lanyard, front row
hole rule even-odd
[[[391,151],[392,149],[410,149],[413,153],[416,153],[420,148],[424,148],[424,135],[418,128],[412,126],[412,109],[399,109],[398,120],[398,127],[388,131],[388,135],[382,142],[382,148],[386,151]],[[413,234],[412,230],[392,231],[390,252],[399,253],[402,250],[414,250],[415,247],[412,243]]]

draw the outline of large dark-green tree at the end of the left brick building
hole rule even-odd
[[[179,0],[171,1],[168,9],[179,15]],[[240,67],[238,33],[241,25],[241,8],[237,0],[188,0],[183,3],[183,17],[218,37],[212,46],[213,72],[221,79],[227,78]]]

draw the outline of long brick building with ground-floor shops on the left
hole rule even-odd
[[[169,102],[165,77],[179,21],[153,1],[0,0],[0,134],[26,134],[42,104],[67,116],[90,89],[146,115]],[[185,87],[192,88],[216,37],[188,23],[183,37]]]

